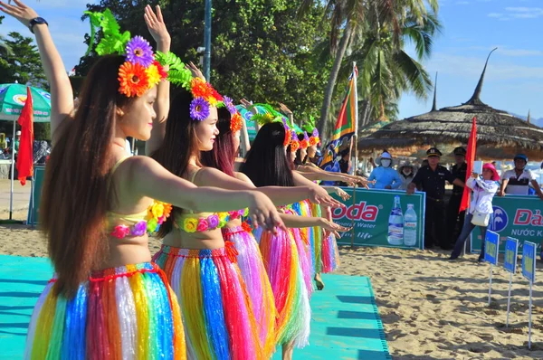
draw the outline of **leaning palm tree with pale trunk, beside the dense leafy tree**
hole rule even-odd
[[[319,0],[318,0],[319,1]],[[302,0],[300,15],[306,14],[313,0]],[[367,29],[389,26],[392,29],[392,43],[401,43],[401,29],[406,22],[406,14],[410,14],[417,24],[423,23],[424,15],[428,14],[426,3],[433,13],[437,13],[438,0],[329,0],[325,7],[324,18],[331,23],[330,50],[334,56],[334,64],[330,71],[329,81],[325,90],[322,109],[318,123],[319,131],[326,134],[326,119],[329,118],[329,108],[332,95],[338,80],[341,63],[349,45],[353,43],[353,35],[364,33]],[[340,37],[340,40],[338,41]],[[379,60],[378,57],[377,60]],[[382,60],[382,59],[381,59]],[[381,68],[386,71],[386,68]]]

